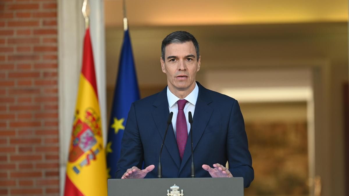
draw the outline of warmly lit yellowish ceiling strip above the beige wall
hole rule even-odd
[[[122,27],[122,0],[104,0],[106,27]],[[129,25],[230,25],[348,21],[347,0],[126,0]]]

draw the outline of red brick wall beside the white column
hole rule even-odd
[[[59,195],[57,0],[0,0],[0,195]]]

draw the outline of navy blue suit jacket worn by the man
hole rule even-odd
[[[229,163],[234,177],[244,178],[244,187],[254,178],[252,158],[237,100],[204,88],[200,83],[193,116],[195,175],[210,177],[201,166]],[[132,166],[155,165],[146,178],[157,178],[159,151],[167,126],[169,104],[167,87],[155,95],[135,101],[128,113],[121,142],[121,156],[116,178]],[[176,118],[176,116],[173,116]],[[173,127],[170,125],[161,155],[163,178],[189,178],[191,175],[191,136],[188,135],[183,159],[180,160]]]

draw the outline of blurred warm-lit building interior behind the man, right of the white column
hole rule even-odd
[[[105,1],[107,108],[121,6]],[[142,97],[166,85],[162,39],[185,30],[200,44],[197,81],[239,101],[255,169],[246,196],[345,195],[348,1],[130,0],[127,17]]]

